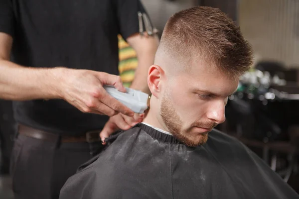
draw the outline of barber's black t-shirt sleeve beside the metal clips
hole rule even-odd
[[[116,2],[119,31],[123,38],[127,39],[139,32],[138,12],[147,12],[140,0],[116,0]]]

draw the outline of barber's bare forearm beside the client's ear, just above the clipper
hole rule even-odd
[[[132,89],[150,94],[148,86],[148,72],[149,67],[153,64],[154,53],[155,52],[149,52],[148,54],[138,57],[138,67],[135,71],[134,81],[131,84]]]

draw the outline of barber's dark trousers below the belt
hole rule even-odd
[[[10,163],[15,199],[58,199],[66,180],[102,148],[101,142],[59,143],[18,134]]]

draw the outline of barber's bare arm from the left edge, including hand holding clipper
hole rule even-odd
[[[0,32],[0,98],[6,100],[63,99],[83,112],[107,114],[133,111],[112,98],[102,85],[125,92],[119,76],[63,67],[31,68],[11,61],[13,39]]]

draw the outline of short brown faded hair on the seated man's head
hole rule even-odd
[[[183,65],[201,59],[234,77],[246,72],[253,62],[252,48],[240,28],[218,8],[207,6],[172,15],[164,27],[158,53]]]

